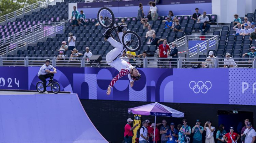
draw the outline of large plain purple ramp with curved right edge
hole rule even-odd
[[[0,142],[107,143],[76,94],[0,95],[0,112]]]

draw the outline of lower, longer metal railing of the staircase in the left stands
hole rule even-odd
[[[57,32],[65,30],[65,23],[62,22],[58,25],[52,26],[44,31],[38,32],[34,35],[31,35],[25,39],[22,39],[20,41],[17,41],[15,43],[11,43],[8,45],[5,45],[3,48],[0,49],[0,56],[8,55],[9,52],[17,51],[21,47],[28,47],[28,44],[37,43],[37,41],[44,39],[46,41],[47,37],[50,35],[56,35]]]

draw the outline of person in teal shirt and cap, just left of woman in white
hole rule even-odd
[[[193,135],[193,143],[203,143],[202,141],[202,133],[204,132],[204,127],[200,126],[200,120],[196,120],[196,125],[192,128]]]

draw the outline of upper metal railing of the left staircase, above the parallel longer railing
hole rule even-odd
[[[34,35],[36,34],[37,32],[40,32],[40,31],[43,31],[44,30],[44,26],[43,24],[38,24],[38,25],[35,25],[35,26],[32,26],[28,29],[25,29],[25,30],[22,30],[22,31],[19,31],[13,35],[10,35],[8,37],[5,37],[4,39],[0,39],[0,46],[4,46],[6,44],[10,44],[12,42],[16,42],[18,40],[21,40],[21,38],[26,38],[27,36],[29,35]]]

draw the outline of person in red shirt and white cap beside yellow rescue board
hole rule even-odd
[[[132,143],[132,130],[135,129],[139,124],[135,124],[135,126],[131,127],[133,120],[131,118],[127,119],[127,124],[124,126],[124,140],[126,143]]]

